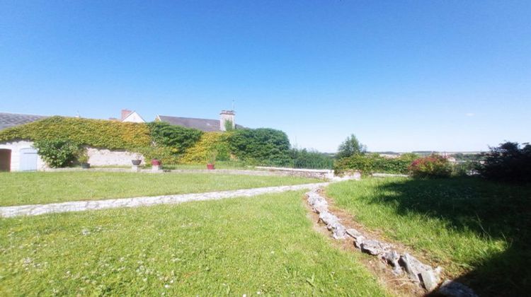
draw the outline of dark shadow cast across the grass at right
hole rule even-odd
[[[479,178],[407,180],[379,185],[372,203],[393,205],[397,214],[444,219],[458,232],[506,240],[509,248],[470,264],[457,279],[480,296],[527,296],[531,291],[531,186]]]

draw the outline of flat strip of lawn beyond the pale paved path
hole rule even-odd
[[[0,206],[295,185],[302,177],[205,173],[0,173]]]

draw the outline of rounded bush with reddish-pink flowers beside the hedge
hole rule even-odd
[[[413,161],[409,170],[413,177],[450,177],[452,166],[447,158],[431,155]]]

